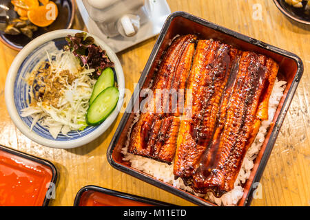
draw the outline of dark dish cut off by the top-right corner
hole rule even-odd
[[[284,0],[273,0],[277,8],[290,19],[310,25],[310,9],[306,13],[305,5],[302,8],[294,8],[292,5],[285,3]]]

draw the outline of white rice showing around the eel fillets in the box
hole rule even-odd
[[[123,160],[130,162],[132,168],[136,168],[137,170],[141,170],[144,173],[152,175],[156,179],[164,181],[167,184],[172,184],[172,186],[175,186],[183,190],[187,190],[188,192],[191,192],[194,195],[204,197],[205,199],[207,199],[207,201],[216,203],[218,206],[236,206],[238,204],[238,201],[243,196],[244,189],[242,188],[242,184],[244,184],[245,181],[247,181],[247,179],[251,174],[251,169],[254,167],[254,159],[258,155],[260,148],[265,140],[267,129],[273,120],[273,116],[276,113],[276,109],[278,107],[280,99],[283,96],[285,84],[286,84],[285,81],[279,81],[278,78],[276,79],[276,82],[273,86],[273,91],[269,98],[269,109],[268,109],[269,119],[262,121],[258,134],[256,135],[256,139],[254,140],[253,144],[249,147],[245,155],[245,158],[243,159],[242,168],[240,169],[240,172],[234,184],[234,189],[225,193],[220,198],[214,197],[212,192],[208,192],[205,195],[195,193],[191,187],[185,186],[182,179],[180,178],[174,179],[173,162],[171,165],[169,165],[163,162],[158,162],[154,159],[133,155],[127,152],[132,126],[136,121],[138,121],[139,117],[138,114],[136,115],[136,118],[134,119],[134,122],[132,123],[132,126],[129,129],[129,132],[127,134],[128,138],[127,141],[125,142],[125,147],[122,149],[122,153],[124,155]]]

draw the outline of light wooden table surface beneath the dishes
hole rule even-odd
[[[168,0],[172,10],[183,10],[236,32],[264,41],[302,58],[304,74],[282,125],[260,181],[261,194],[252,206],[310,205],[310,26],[287,19],[271,0]],[[73,28],[86,30],[76,8]],[[126,87],[133,91],[156,37],[118,53]],[[94,142],[70,150],[41,146],[25,137],[6,110],[6,74],[18,52],[0,43],[0,144],[42,157],[59,170],[51,206],[72,206],[76,192],[96,185],[180,206],[193,203],[122,173],[107,162],[106,151],[122,114]]]

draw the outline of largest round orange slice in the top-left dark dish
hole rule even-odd
[[[58,16],[57,5],[50,1],[47,5],[41,5],[28,11],[28,19],[34,25],[46,27],[52,24]]]

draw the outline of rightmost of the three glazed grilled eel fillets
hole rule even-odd
[[[243,52],[231,71],[221,98],[218,123],[191,179],[196,192],[211,190],[216,197],[234,188],[242,160],[254,141],[268,102],[278,64],[254,52]]]

